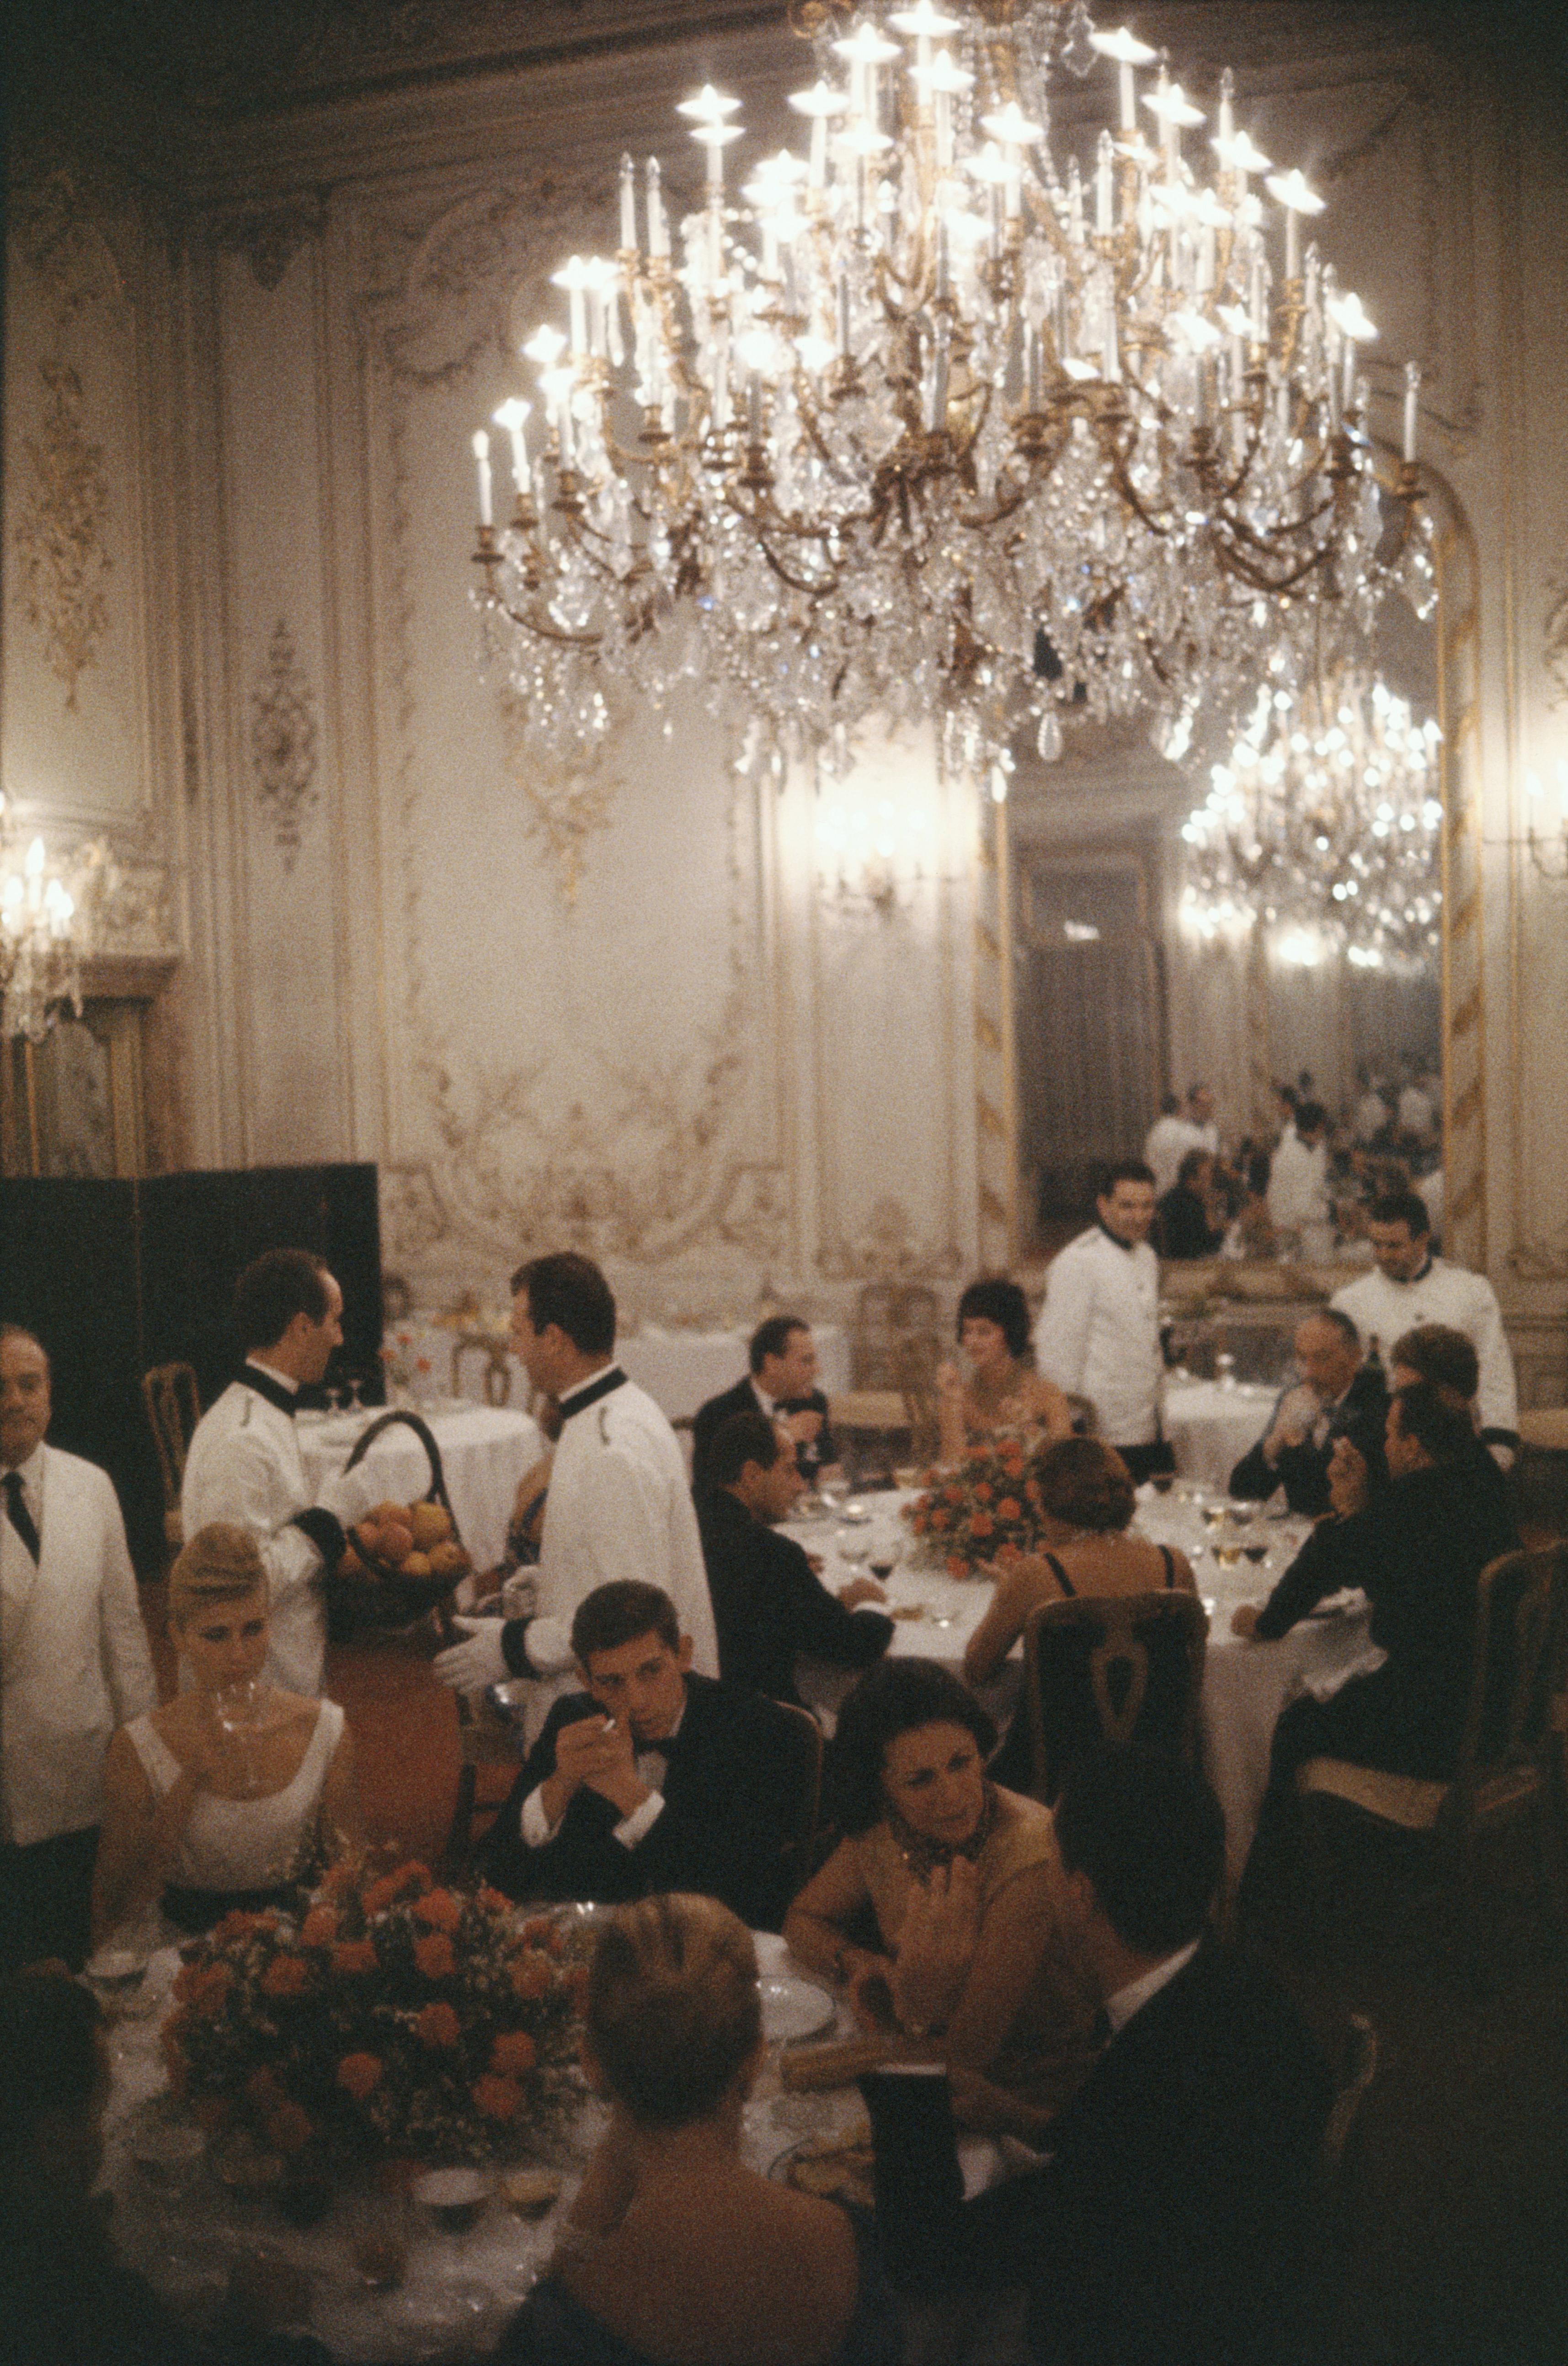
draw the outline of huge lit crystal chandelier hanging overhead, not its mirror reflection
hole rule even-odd
[[[1381,494],[1360,348],[1305,230],[1322,199],[1190,104],[1083,0],[792,0],[802,151],[750,163],[738,99],[681,106],[705,194],[622,159],[620,244],[553,274],[565,331],[478,433],[478,606],[542,752],[700,679],[792,755],[934,719],[972,774],[1060,712],[1149,712],[1185,745],[1253,653],[1431,599],[1405,466]],[[1102,69],[1116,130],[1057,163],[1048,69]],[[1109,92],[1107,92],[1109,97]],[[738,187],[733,182],[738,180]],[[1038,648],[1052,653],[1048,670]]]

